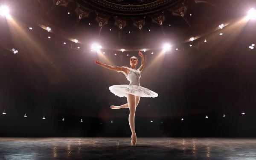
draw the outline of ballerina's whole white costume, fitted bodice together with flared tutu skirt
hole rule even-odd
[[[113,85],[109,87],[109,90],[119,97],[127,97],[127,94],[132,94],[140,97],[157,97],[158,94],[149,90],[148,88],[140,86],[140,70],[134,70],[128,67],[126,69],[130,70],[128,76],[126,76],[125,72],[119,71],[125,74],[130,84],[121,84],[121,85]]]

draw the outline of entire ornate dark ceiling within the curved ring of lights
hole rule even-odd
[[[181,44],[213,32],[226,16],[227,0],[38,0],[35,22],[54,34],[103,48],[159,48],[163,41]],[[220,12],[221,11],[221,12]],[[67,14],[68,13],[68,14]],[[224,16],[225,15],[225,16]]]

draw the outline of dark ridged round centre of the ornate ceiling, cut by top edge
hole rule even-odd
[[[65,1],[65,0],[62,0]],[[67,0],[66,0],[67,1]],[[174,8],[184,0],[75,0],[85,7],[110,15],[138,17]]]

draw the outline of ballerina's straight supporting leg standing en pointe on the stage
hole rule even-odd
[[[130,109],[129,114],[129,125],[131,128],[131,145],[136,145],[136,133],[135,133],[135,126],[134,126],[134,118],[135,118],[135,111],[136,111],[136,98],[132,94],[127,94],[127,102]]]

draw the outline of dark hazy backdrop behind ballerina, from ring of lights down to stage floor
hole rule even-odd
[[[110,109],[127,102],[108,90],[128,84],[122,73],[94,64],[98,55],[82,44],[81,49],[74,49],[79,44],[73,49],[63,46],[54,35],[47,39],[48,32],[41,28],[30,31],[25,22],[28,41],[15,37],[3,17],[0,23],[0,111],[7,113],[0,115],[1,137],[131,135],[129,110]],[[236,25],[192,42],[193,47],[178,44],[164,55],[160,50],[153,50],[153,55],[151,50],[143,52],[140,84],[159,96],[140,99],[137,136],[255,137],[256,51],[249,46],[256,44],[256,25],[253,20]],[[19,52],[13,54],[12,48]],[[108,61],[102,63],[129,66],[135,55],[140,64],[137,52],[103,51]]]

